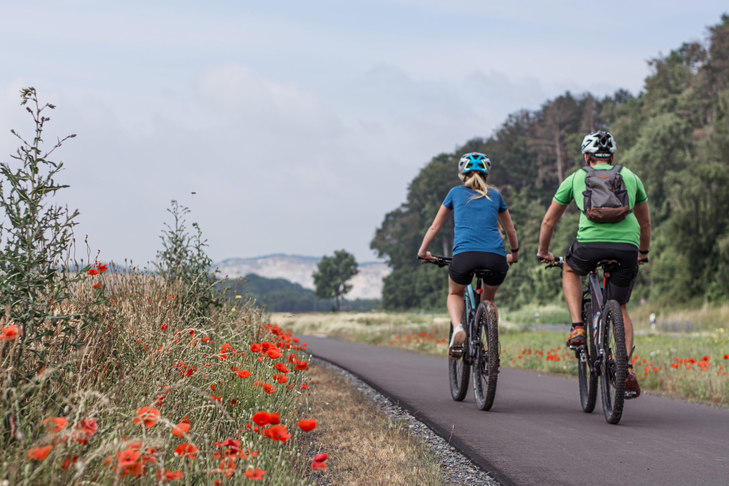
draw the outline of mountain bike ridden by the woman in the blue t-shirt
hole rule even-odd
[[[434,260],[423,263],[437,264],[445,267],[451,263],[448,256],[434,256]],[[466,305],[461,317],[461,325],[466,331],[466,340],[459,354],[460,359],[448,359],[448,383],[451,385],[453,400],[462,401],[468,392],[468,380],[473,370],[473,396],[476,406],[481,410],[491,409],[496,396],[496,380],[499,377],[499,320],[496,308],[488,300],[481,301],[481,282],[491,278],[491,270],[475,270],[475,288],[469,284],[464,291]],[[448,342],[453,337],[453,323],[448,334]]]

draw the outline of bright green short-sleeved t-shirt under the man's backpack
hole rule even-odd
[[[609,169],[609,164],[596,164],[596,169]],[[628,204],[631,209],[636,203],[645,203],[648,200],[645,195],[643,183],[630,169],[623,167],[620,170],[623,176],[625,189],[628,189]],[[585,192],[585,176],[587,172],[579,171],[573,173],[562,181],[554,200],[561,205],[568,205],[573,199],[580,210],[580,229],[577,230],[577,241],[581,243],[589,241],[604,241],[609,243],[630,243],[640,246],[640,225],[636,216],[631,212],[625,216],[623,221],[617,223],[596,223],[585,216],[585,200],[582,192]],[[577,195],[577,197],[574,197]]]

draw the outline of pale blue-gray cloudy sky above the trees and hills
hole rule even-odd
[[[33,85],[58,106],[47,139],[78,134],[57,152],[61,200],[104,261],[152,259],[173,198],[216,260],[338,248],[372,260],[375,228],[432,156],[564,90],[638,93],[648,59],[703,39],[726,10],[0,0],[0,157],[17,145],[10,128],[31,129],[17,92]]]

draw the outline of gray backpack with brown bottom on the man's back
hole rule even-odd
[[[590,166],[582,169],[585,176],[585,216],[596,223],[617,223],[632,213],[628,202],[628,189],[625,189],[622,165],[609,169],[596,169]]]

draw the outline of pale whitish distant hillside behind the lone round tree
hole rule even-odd
[[[305,289],[313,289],[311,274],[321,257],[273,254],[254,258],[229,258],[217,264],[222,276],[243,277],[249,273],[266,278],[285,278]],[[382,280],[390,273],[390,267],[381,262],[359,264],[359,273],[351,280],[352,290],[347,299],[381,299]]]

